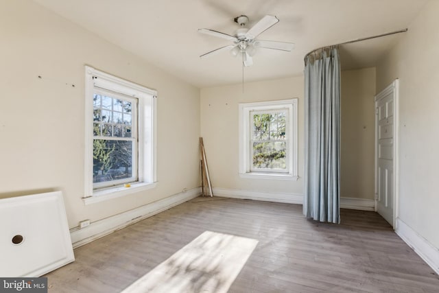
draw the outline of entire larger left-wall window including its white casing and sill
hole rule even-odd
[[[86,67],[86,203],[154,187],[155,100],[156,91]]]

